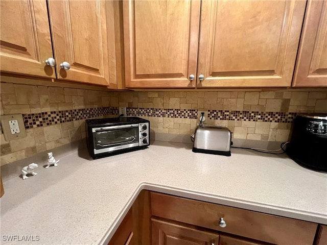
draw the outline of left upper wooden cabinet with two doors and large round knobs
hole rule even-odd
[[[1,1],[1,70],[116,86],[113,11],[112,1]]]

